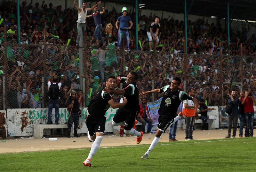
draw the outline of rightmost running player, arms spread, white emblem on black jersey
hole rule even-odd
[[[163,88],[154,89],[151,91],[145,91],[140,93],[140,95],[144,95],[147,93],[163,93],[164,96],[160,104],[160,108],[158,109],[158,122],[157,125],[157,131],[154,140],[152,141],[151,145],[149,146],[148,151],[141,157],[141,159],[147,159],[149,153],[154,149],[154,147],[157,145],[160,136],[162,133],[169,127],[169,125],[172,125],[176,121],[178,121],[181,118],[186,118],[185,115],[182,114],[182,112],[179,113],[178,116],[176,116],[176,112],[178,107],[180,106],[180,102],[183,100],[193,100],[195,105],[195,119],[198,119],[198,112],[197,112],[197,100],[194,97],[191,97],[187,93],[178,90],[178,87],[180,85],[180,78],[175,77],[172,79],[170,86],[164,86]]]

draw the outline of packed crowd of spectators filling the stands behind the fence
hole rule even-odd
[[[36,3],[32,5],[22,2],[20,6],[20,36],[21,45],[18,45],[17,35],[17,15],[16,3],[13,1],[3,1],[0,7],[0,16],[4,19],[1,24],[0,34],[0,66],[1,71],[4,66],[4,25],[7,25],[7,57],[8,74],[7,83],[7,107],[8,108],[40,108],[42,106],[42,77],[46,73],[46,80],[51,76],[54,70],[60,70],[61,103],[64,107],[69,97],[71,89],[78,91],[80,106],[83,106],[83,93],[80,89],[79,79],[85,77],[88,80],[88,90],[86,90],[88,105],[90,98],[104,87],[103,78],[110,75],[127,75],[128,71],[137,71],[139,80],[137,86],[142,91],[148,91],[154,88],[161,88],[169,85],[172,78],[178,76],[182,78],[180,89],[186,90],[194,88],[195,96],[198,100],[206,100],[207,106],[221,106],[222,89],[224,95],[228,93],[229,84],[233,71],[235,75],[233,84],[236,90],[249,90],[256,97],[256,90],[252,86],[251,76],[255,75],[255,55],[256,55],[256,36],[248,36],[249,27],[244,27],[241,31],[230,33],[230,44],[227,41],[227,32],[219,25],[208,23],[204,18],[198,18],[196,21],[188,20],[188,55],[184,55],[184,21],[179,21],[171,16],[160,16],[159,23],[159,45],[156,56],[149,53],[148,37],[146,31],[149,25],[154,21],[155,15],[141,15],[139,11],[139,40],[141,46],[139,51],[126,53],[109,52],[109,50],[97,51],[94,49],[96,41],[93,37],[95,30],[92,17],[86,19],[87,27],[87,47],[86,56],[86,76],[79,76],[79,55],[76,47],[76,20],[78,11],[75,8],[63,9],[61,5],[54,6],[52,3]],[[88,3],[91,7],[94,4]],[[101,5],[102,7],[105,4]],[[99,6],[99,10],[101,10]],[[118,31],[113,27],[113,36],[108,40],[105,34],[105,26],[111,23],[115,26],[116,19],[121,15],[121,9],[106,9],[102,14],[102,36],[111,46],[117,45]],[[128,16],[135,23],[135,10],[128,9]],[[88,14],[87,14],[88,15]],[[130,49],[135,49],[135,24],[129,31]],[[68,43],[66,47],[65,44]],[[47,46],[45,46],[46,41]],[[240,43],[243,44],[242,49]],[[65,45],[65,46],[64,46]],[[229,48],[229,49],[228,49]],[[143,50],[143,51],[141,51]],[[228,53],[230,51],[230,53]],[[243,58],[241,68],[241,51]],[[97,53],[98,52],[98,53]],[[122,53],[124,52],[124,53]],[[100,55],[101,53],[101,55]],[[105,56],[106,68],[99,63],[99,56]],[[220,56],[223,55],[222,61]],[[46,56],[47,70],[43,70],[43,57]],[[116,59],[109,59],[115,57]],[[103,65],[104,66],[104,65]],[[102,70],[102,68],[104,68]],[[103,74],[100,73],[103,71]],[[222,72],[222,73],[221,73]],[[0,73],[0,75],[2,72]],[[241,74],[242,78],[241,79]],[[0,79],[0,94],[3,94],[3,75]],[[155,77],[155,78],[154,78]],[[186,81],[186,82],[185,82]],[[153,84],[154,82],[154,84]],[[36,95],[36,96],[35,96]],[[154,101],[162,95],[155,95]],[[3,96],[0,96],[2,101]],[[17,101],[16,101],[17,97]],[[147,95],[146,101],[153,101],[152,95]],[[118,97],[116,97],[118,99]],[[142,97],[140,97],[141,101]],[[118,101],[118,100],[116,100]],[[3,108],[3,104],[0,103]]]

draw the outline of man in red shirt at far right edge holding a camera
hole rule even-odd
[[[253,103],[256,103],[256,100],[252,97],[252,94],[248,90],[245,91],[245,96],[242,98],[242,105],[244,105],[244,116],[245,116],[245,137],[253,137],[253,120],[254,120],[254,109]],[[250,131],[249,131],[250,129]]]

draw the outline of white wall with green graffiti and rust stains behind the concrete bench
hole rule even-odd
[[[113,132],[112,119],[116,114],[117,109],[109,108],[106,112],[106,125],[105,132]],[[85,124],[85,118],[87,115],[87,108],[82,108],[82,117],[79,118],[79,126],[77,133],[87,133],[88,129]],[[7,126],[8,137],[14,136],[33,136],[34,124],[46,124],[48,116],[47,108],[35,108],[35,109],[8,109],[7,110]],[[67,108],[59,108],[59,123],[65,124],[68,121]],[[52,110],[52,123],[55,123],[55,111]],[[74,128],[74,124],[73,124]],[[50,134],[50,133],[49,133]]]

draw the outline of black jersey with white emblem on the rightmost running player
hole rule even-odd
[[[183,100],[192,100],[193,97],[185,93],[184,91],[177,90],[172,92],[170,86],[164,86],[160,89],[160,93],[164,92],[163,99],[158,109],[158,114],[161,118],[174,118],[177,115],[177,109],[180,106],[180,102]]]

